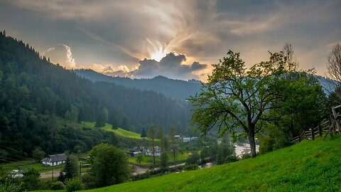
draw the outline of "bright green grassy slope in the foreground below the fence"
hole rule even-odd
[[[99,191],[340,191],[341,137],[320,138],[232,164]]]

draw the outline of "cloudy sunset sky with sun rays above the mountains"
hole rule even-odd
[[[229,49],[249,67],[285,43],[302,69],[326,75],[340,10],[340,0],[0,0],[0,30],[107,75],[205,81]]]

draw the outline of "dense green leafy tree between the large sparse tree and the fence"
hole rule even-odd
[[[325,116],[324,92],[313,75],[306,72],[283,73],[275,87],[281,100],[273,103],[274,108],[270,112],[271,115],[281,117],[275,124],[287,140],[298,136],[302,130],[318,126],[322,119],[328,118]]]

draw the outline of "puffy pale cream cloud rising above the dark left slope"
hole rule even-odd
[[[49,48],[43,53],[46,58],[50,58],[51,63],[62,65],[65,68],[75,68],[75,59],[72,57],[71,48],[64,44],[58,44]]]

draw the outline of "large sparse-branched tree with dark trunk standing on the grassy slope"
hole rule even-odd
[[[237,130],[246,134],[251,146],[251,157],[256,156],[254,136],[270,120],[266,113],[271,102],[280,99],[274,88],[275,76],[284,70],[286,57],[270,53],[266,62],[253,65],[249,70],[239,53],[229,50],[227,57],[213,65],[212,75],[202,85],[202,92],[190,97],[196,107],[192,124],[202,135],[217,127],[218,134],[225,132],[237,135]]]

